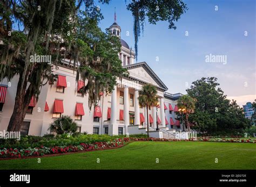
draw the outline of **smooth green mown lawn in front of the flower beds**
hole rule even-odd
[[[37,160],[2,160],[0,169],[256,169],[256,144],[138,141],[118,149]]]

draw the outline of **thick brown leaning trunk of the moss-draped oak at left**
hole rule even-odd
[[[17,92],[15,97],[15,105],[14,105],[14,111],[12,112],[9,125],[7,128],[7,131],[19,131],[21,129],[23,120],[26,115],[26,110],[29,107],[30,100],[33,95],[33,89],[30,84],[28,90],[26,91],[26,86],[28,84],[28,74],[25,77],[25,81],[22,85],[22,76],[19,76],[19,81],[17,85]]]

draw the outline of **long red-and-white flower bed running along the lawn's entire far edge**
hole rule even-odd
[[[90,136],[89,136],[90,137]],[[112,136],[114,137],[114,136]],[[86,139],[87,140],[87,139]],[[112,140],[112,138],[111,138]],[[58,140],[57,142],[59,142]],[[89,140],[87,140],[89,141]],[[76,142],[75,145],[59,145],[59,146],[44,146],[41,145],[36,148],[2,148],[0,149],[0,158],[21,158],[29,156],[43,156],[50,154],[60,154],[60,153],[70,153],[79,151],[89,151],[96,149],[108,149],[119,147],[123,145],[124,142],[128,141],[208,141],[208,142],[240,142],[240,143],[256,143],[255,139],[225,139],[225,138],[211,138],[211,137],[199,137],[197,139],[165,139],[165,138],[116,138],[112,141],[97,141],[91,139],[91,143]],[[72,142],[72,141],[71,141]],[[65,142],[66,143],[66,142]],[[79,143],[79,144],[78,144]]]

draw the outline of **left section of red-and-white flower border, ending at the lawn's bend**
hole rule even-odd
[[[12,158],[21,158],[29,156],[43,156],[47,154],[59,154],[59,153],[70,153],[70,152],[79,152],[79,151],[88,151],[96,149],[107,149],[113,147],[119,147],[123,145],[124,142],[129,141],[129,138],[118,138],[109,142],[95,142],[95,143],[80,143],[77,146],[55,146],[55,147],[37,147],[37,148],[3,148],[0,149],[0,157],[12,157]]]

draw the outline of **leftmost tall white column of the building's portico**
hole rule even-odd
[[[118,135],[117,127],[117,86],[114,86],[114,90],[111,94],[111,117],[109,125],[109,135]]]

